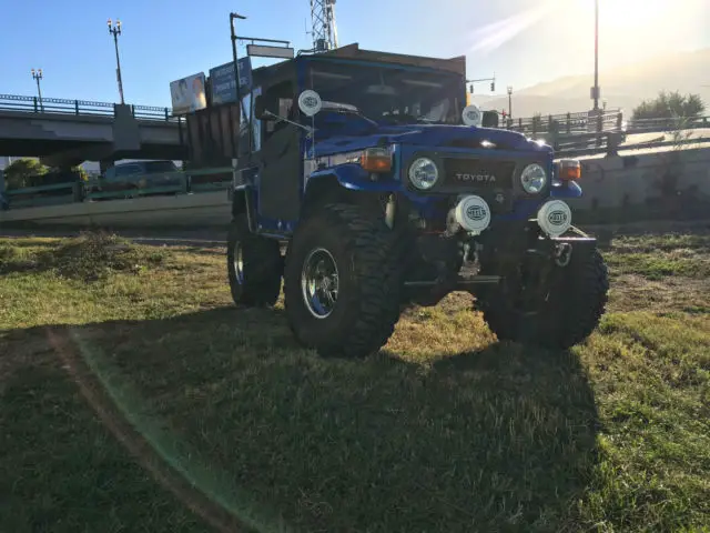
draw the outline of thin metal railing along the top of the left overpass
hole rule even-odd
[[[113,117],[114,103],[92,102],[89,100],[65,100],[62,98],[23,97],[18,94],[0,94],[0,110],[23,111],[31,113],[54,113],[93,117]],[[132,105],[133,117],[139,120],[155,120],[163,122],[180,122],[181,117],[174,117],[169,108],[152,105]]]

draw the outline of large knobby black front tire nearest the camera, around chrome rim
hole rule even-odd
[[[302,289],[312,250],[332,255],[338,295],[332,313],[316,318]],[[356,205],[325,204],[304,220],[286,252],[284,298],[296,339],[322,356],[364,358],[378,351],[399,320],[402,275],[390,230]]]

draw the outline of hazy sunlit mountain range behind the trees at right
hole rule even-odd
[[[558,114],[591,109],[590,88],[594,73],[568,76],[515,91],[513,115],[532,117],[536,112]],[[601,99],[608,108],[621,108],[630,114],[641,101],[661,90],[699,94],[710,114],[710,49],[674,52],[642,63],[599,70]],[[508,95],[476,95],[483,109],[508,110]]]

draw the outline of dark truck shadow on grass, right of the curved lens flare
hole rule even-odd
[[[193,457],[300,531],[558,531],[596,464],[594,394],[568,352],[323,360],[278,310],[71,335]]]

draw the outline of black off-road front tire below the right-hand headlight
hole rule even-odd
[[[575,254],[566,268],[555,266],[550,299],[535,315],[524,315],[504,294],[491,291],[479,302],[498,340],[566,350],[599,325],[608,301],[609,278],[598,250]]]

